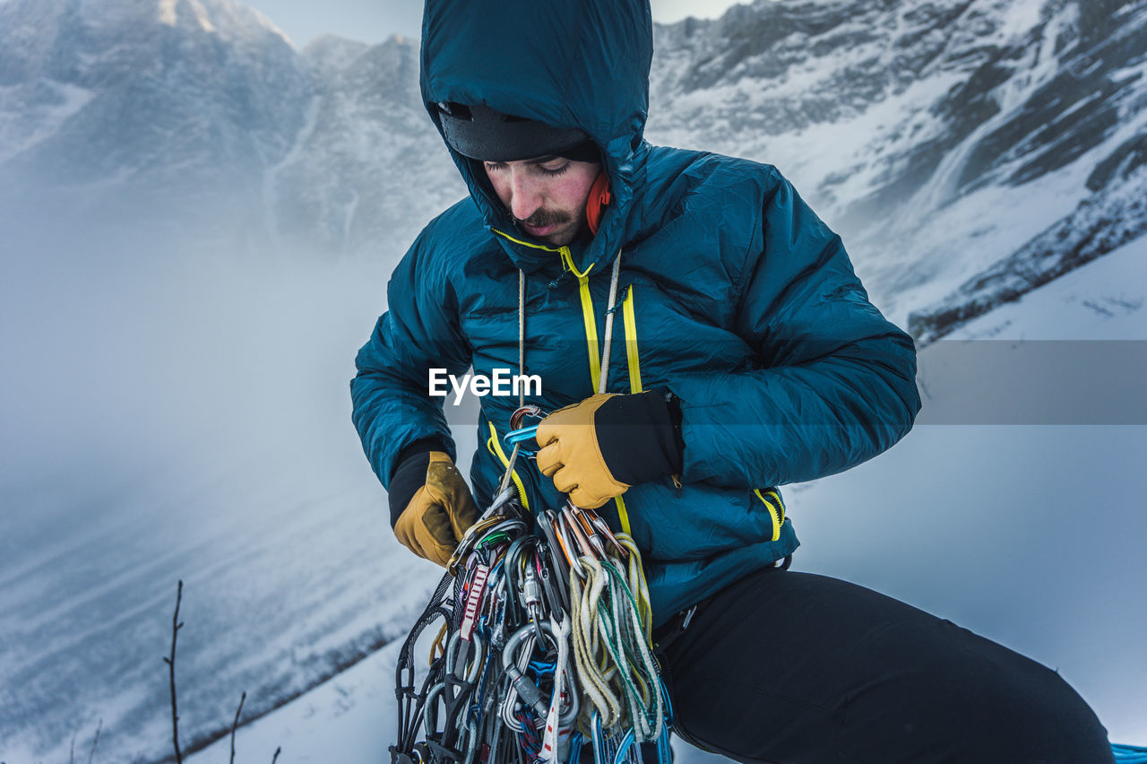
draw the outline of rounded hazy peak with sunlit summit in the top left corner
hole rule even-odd
[[[228,0],[0,6],[8,182],[257,198],[310,86],[282,32]]]

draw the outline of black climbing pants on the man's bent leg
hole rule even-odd
[[[1114,761],[1056,672],[863,586],[770,568],[676,625],[676,726],[739,762]]]

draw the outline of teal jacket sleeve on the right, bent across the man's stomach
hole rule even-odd
[[[687,482],[833,475],[891,447],[920,410],[912,338],[868,302],[840,236],[771,172],[735,314],[758,362],[669,385],[681,400]]]

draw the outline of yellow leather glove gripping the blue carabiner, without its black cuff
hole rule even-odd
[[[598,445],[594,414],[614,395],[598,393],[559,408],[538,424],[538,469],[586,509],[595,509],[630,488],[609,471]]]

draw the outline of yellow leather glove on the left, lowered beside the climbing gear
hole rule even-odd
[[[477,520],[462,474],[446,453],[431,451],[426,485],[398,516],[395,536],[414,554],[445,568],[462,533]]]

